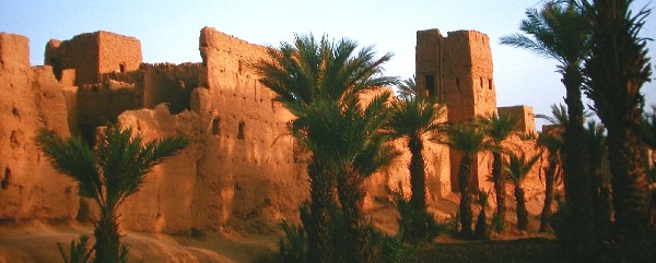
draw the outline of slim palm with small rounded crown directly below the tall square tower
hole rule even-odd
[[[452,124],[445,131],[446,138],[438,141],[462,153],[458,170],[458,191],[460,192],[460,232],[465,238],[472,237],[471,224],[471,167],[477,162],[477,154],[496,150],[487,139],[484,129],[475,122]]]

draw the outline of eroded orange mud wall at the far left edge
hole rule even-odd
[[[28,39],[0,33],[0,222],[72,219],[74,182],[52,170],[34,138],[42,128],[69,134],[67,98],[50,67],[30,65]]]

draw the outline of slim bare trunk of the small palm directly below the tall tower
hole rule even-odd
[[[471,223],[473,215],[471,212],[471,192],[469,182],[471,177],[471,162],[469,155],[465,155],[460,160],[460,171],[458,174],[458,190],[460,191],[460,234],[465,238],[471,238]]]

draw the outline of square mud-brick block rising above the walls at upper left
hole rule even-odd
[[[61,80],[62,70],[75,70],[75,85],[99,82],[99,75],[128,72],[141,64],[141,43],[134,37],[109,32],[74,36],[70,40],[51,39],[46,45],[45,64]]]

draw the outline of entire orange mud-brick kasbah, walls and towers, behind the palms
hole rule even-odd
[[[26,37],[0,33],[0,222],[87,219],[93,205],[54,171],[34,136],[46,128],[93,143],[108,121],[130,125],[147,140],[185,134],[192,142],[155,167],[121,207],[122,228],[262,232],[297,220],[308,186],[303,155],[285,135],[292,116],[248,67],[268,59],[265,47],[206,27],[201,63],[142,63],[138,39],[108,32],[50,40],[43,67],[31,67],[28,48]],[[417,76],[420,87],[448,105],[448,121],[496,110],[489,39],[481,33],[418,32]],[[535,131],[530,107],[499,111],[522,118],[518,131]],[[429,202],[435,205],[452,194],[458,153],[437,144],[424,151]],[[375,196],[399,182],[409,192],[409,158],[405,152],[367,180],[367,210],[376,210]],[[473,177],[485,189],[489,163],[481,155]],[[542,188],[537,170],[529,194]]]

